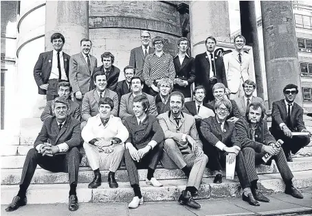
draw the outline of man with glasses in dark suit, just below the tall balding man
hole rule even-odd
[[[135,75],[134,67],[128,65],[124,68],[124,77],[126,79],[117,83],[115,91],[118,95],[119,102],[120,99],[122,98],[122,95],[131,93],[131,78],[134,77],[134,75]]]

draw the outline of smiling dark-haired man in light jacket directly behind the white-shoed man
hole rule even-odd
[[[122,120],[126,119],[126,117],[131,117],[133,115],[133,98],[137,95],[145,95],[149,103],[151,104],[151,108],[148,110],[148,115],[158,115],[155,106],[155,99],[152,95],[148,95],[142,92],[143,85],[143,81],[140,77],[131,78],[132,93],[122,95],[122,99],[120,101],[119,116]]]

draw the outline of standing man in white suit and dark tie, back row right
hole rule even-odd
[[[252,54],[243,51],[245,38],[241,35],[236,36],[234,45],[235,50],[223,56],[230,99],[242,97],[245,94],[243,83],[246,80],[253,80],[254,73]]]

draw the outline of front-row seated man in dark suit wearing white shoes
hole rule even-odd
[[[124,121],[124,125],[129,131],[124,158],[130,185],[135,194],[129,208],[137,208],[143,203],[137,168],[148,168],[146,184],[151,184],[154,187],[162,186],[154,178],[154,171],[163,152],[164,132],[156,117],[147,115],[149,108],[150,103],[145,95],[135,96],[133,98],[134,115],[127,117]]]

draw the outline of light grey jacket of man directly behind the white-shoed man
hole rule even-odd
[[[157,108],[155,106],[155,99],[152,95],[148,95],[146,93],[142,93],[146,95],[148,101],[150,102],[150,108],[148,110],[147,115],[158,115]],[[133,113],[133,93],[128,93],[126,95],[122,95],[122,99],[120,101],[120,110],[119,116],[122,120],[126,119],[126,117],[130,117],[134,115]]]

